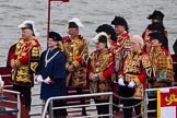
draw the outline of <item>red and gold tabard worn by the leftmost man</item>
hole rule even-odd
[[[40,45],[36,38],[25,40],[20,38],[15,44],[10,60],[16,64],[12,69],[12,82],[16,85],[33,86],[34,73],[39,62]]]

